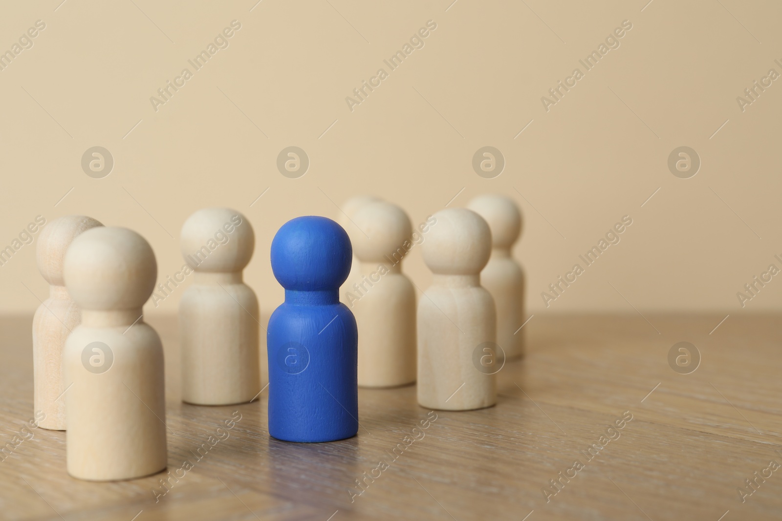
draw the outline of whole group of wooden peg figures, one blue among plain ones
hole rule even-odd
[[[297,217],[271,243],[285,302],[267,327],[269,434],[354,436],[359,386],[417,381],[426,408],[494,405],[497,370],[523,351],[515,202],[482,195],[413,228],[399,206],[360,197],[338,220]],[[135,231],[86,216],[42,230],[38,269],[51,291],[33,323],[34,408],[41,427],[66,430],[71,476],[127,480],[166,468],[163,346],[142,306],[191,273],[179,304],[182,400],[258,397],[260,313],[242,281],[254,247],[241,213],[201,209],[181,230],[185,266],[156,288],[155,255]],[[417,247],[433,273],[418,305],[401,270]]]

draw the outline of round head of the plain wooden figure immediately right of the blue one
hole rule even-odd
[[[353,253],[361,262],[387,262],[407,253],[413,227],[399,206],[390,202],[370,202],[353,213],[354,232],[349,233]],[[394,256],[396,255],[396,257]]]

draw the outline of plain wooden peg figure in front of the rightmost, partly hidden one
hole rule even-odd
[[[418,301],[418,404],[466,411],[494,405],[496,375],[482,366],[496,341],[494,301],[480,285],[489,225],[468,209],[444,209],[421,244],[432,286]],[[490,352],[491,355],[496,355]]]

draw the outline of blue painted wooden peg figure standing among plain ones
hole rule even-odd
[[[278,440],[358,432],[358,330],[339,302],[352,259],[345,230],[325,217],[291,219],[271,241],[271,269],[285,287],[267,330],[269,434]]]

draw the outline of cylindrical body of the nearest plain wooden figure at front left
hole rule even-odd
[[[142,320],[128,330],[131,315],[113,327],[82,323],[66,342],[66,459],[68,473],[81,480],[128,480],[166,468],[163,346]]]

